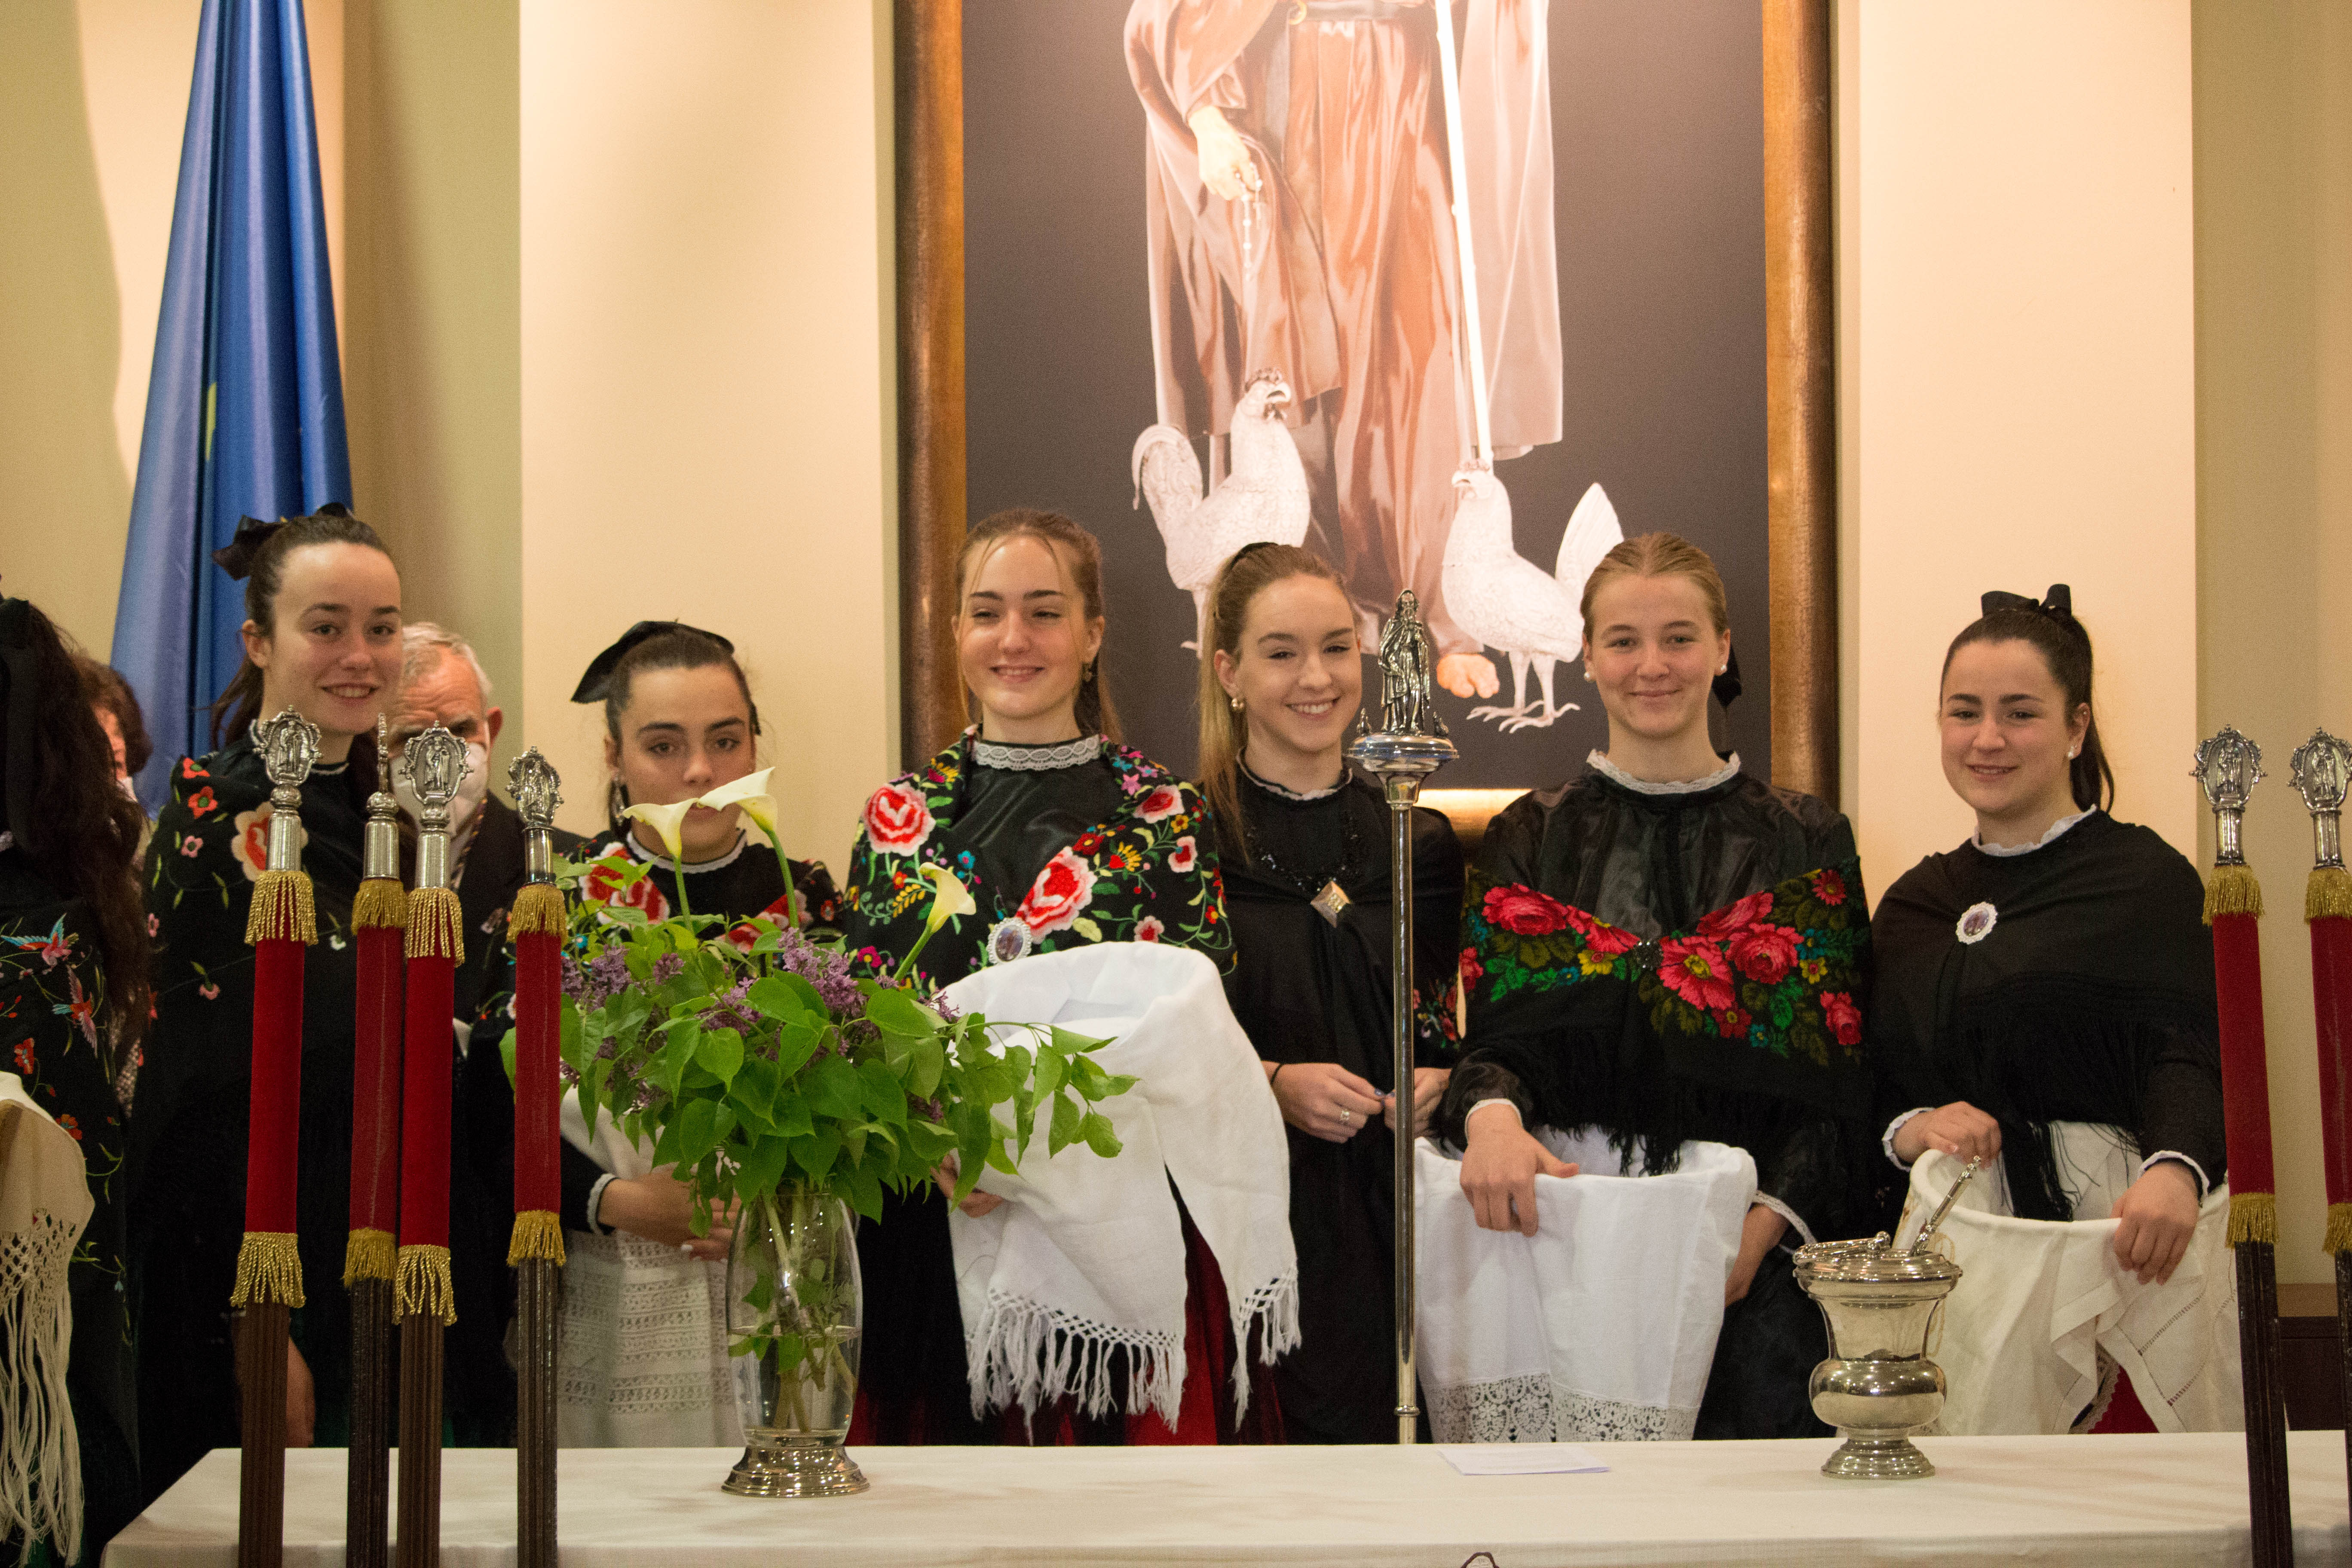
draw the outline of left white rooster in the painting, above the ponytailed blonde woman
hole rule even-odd
[[[1298,545],[1308,536],[1308,470],[1282,425],[1291,388],[1272,371],[1249,378],[1232,409],[1232,465],[1202,494],[1192,442],[1171,425],[1136,437],[1136,505],[1152,503],[1152,522],[1169,550],[1169,581],[1192,595],[1192,625],[1209,618],[1216,569],[1242,545]],[[1197,646],[1197,644],[1185,644]]]

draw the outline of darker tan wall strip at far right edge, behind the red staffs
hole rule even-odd
[[[2352,736],[2352,7],[2199,5],[2194,42],[2197,724],[2237,724],[2270,769],[2246,858],[2270,893],[2279,1276],[2324,1281],[2312,832],[2286,759],[2317,724]]]

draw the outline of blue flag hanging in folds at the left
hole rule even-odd
[[[115,607],[151,811],[245,661],[245,585],[212,552],[245,515],[329,501],[350,505],[350,454],[301,0],[205,0]]]

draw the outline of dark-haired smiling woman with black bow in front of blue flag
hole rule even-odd
[[[400,571],[376,531],[329,505],[247,520],[214,557],[245,578],[245,665],[214,703],[207,757],[183,757],[146,860],[155,1025],[127,1164],[139,1316],[141,1488],[160,1495],[207,1448],[238,1441],[228,1291],[245,1229],[254,950],[245,917],[268,860],[270,780],[254,719],[285,708],[320,729],[301,790],[318,945],[303,961],[296,1234],[308,1307],[287,1378],[294,1441],[343,1441],[350,1316],[350,900],[376,788],[374,724],[400,684]],[[463,1394],[452,1420],[470,1418]]]

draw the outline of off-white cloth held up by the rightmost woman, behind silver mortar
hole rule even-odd
[[[2140,1284],[2114,1260],[2122,1220],[2107,1213],[2140,1157],[2114,1128],[2053,1121],[2067,1220],[2018,1220],[1992,1164],[1945,1218],[1943,1251],[1966,1269],[1929,1347],[1945,1373],[1938,1432],[1955,1436],[2089,1432],[2107,1410],[2114,1371],[2159,1432],[2241,1432],[2237,1269],[2230,1185],[2206,1194],[2197,1232],[2169,1281]],[[1943,1199],[1959,1161],[1929,1150],[1912,1166],[1898,1237]]]

